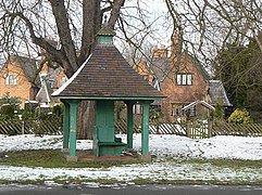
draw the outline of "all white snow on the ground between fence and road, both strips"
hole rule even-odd
[[[126,135],[118,135],[126,141]],[[90,150],[92,141],[77,141],[78,150]],[[140,150],[141,135],[134,135],[134,147]],[[61,148],[61,135],[43,138],[27,135],[0,135],[0,153],[21,150]],[[151,164],[135,164],[110,168],[30,168],[0,166],[0,180],[220,180],[262,181],[260,169],[232,170],[210,164],[194,165],[185,158],[226,158],[262,160],[262,138],[214,136],[211,139],[188,139],[177,135],[150,134],[150,153],[158,158]],[[176,160],[165,160],[164,157]],[[178,160],[177,160],[178,159]]]

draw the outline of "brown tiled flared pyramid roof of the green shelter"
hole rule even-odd
[[[164,98],[144,80],[114,44],[109,42],[97,44],[89,58],[52,95],[60,99],[88,100],[159,100]]]

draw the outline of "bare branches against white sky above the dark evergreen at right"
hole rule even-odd
[[[248,43],[255,39],[262,53],[260,0],[165,0],[172,20],[171,31],[178,30],[184,50],[208,65],[227,43]]]

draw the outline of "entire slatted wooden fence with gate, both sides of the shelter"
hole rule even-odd
[[[115,131],[126,133],[127,122],[125,119],[115,121]],[[187,130],[185,122],[150,122],[149,132],[151,134],[177,134],[190,138],[207,138],[208,123],[194,122]],[[140,133],[141,127],[134,123],[134,133]],[[58,119],[47,120],[0,120],[0,134],[62,134],[62,122]],[[214,135],[242,135],[242,136],[262,136],[262,125],[229,125],[225,121],[214,123],[212,131]]]

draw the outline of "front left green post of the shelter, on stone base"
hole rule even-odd
[[[76,156],[76,121],[78,101],[68,101],[70,103],[70,156]]]

